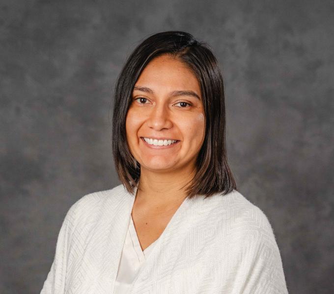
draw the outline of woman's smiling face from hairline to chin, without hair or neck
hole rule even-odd
[[[204,127],[195,74],[166,54],[154,58],[136,82],[126,116],[128,145],[141,169],[171,172],[195,168]],[[168,140],[177,142],[169,145]]]

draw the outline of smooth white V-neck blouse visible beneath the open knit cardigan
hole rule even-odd
[[[138,270],[144,264],[157,241],[158,239],[142,251],[132,216],[130,217],[113,294],[128,293]]]

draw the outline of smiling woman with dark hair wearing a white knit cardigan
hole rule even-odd
[[[112,148],[122,184],[68,211],[42,294],[287,293],[272,227],[227,163],[208,46],[167,31],[134,50],[116,84]]]

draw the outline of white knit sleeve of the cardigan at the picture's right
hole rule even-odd
[[[282,261],[272,226],[256,207],[242,230],[240,265],[233,294],[288,294]]]

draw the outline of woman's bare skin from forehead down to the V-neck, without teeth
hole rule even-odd
[[[136,87],[149,88],[151,93]],[[198,98],[172,96],[172,91],[192,91]],[[167,54],[153,59],[136,82],[126,117],[126,136],[129,149],[140,164],[132,217],[143,250],[159,238],[186,197],[185,188],[181,187],[195,174],[205,130],[201,99],[195,74]],[[140,137],[180,142],[154,149]]]

